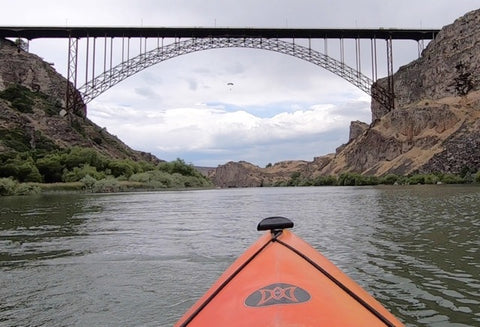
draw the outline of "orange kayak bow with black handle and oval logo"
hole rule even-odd
[[[284,217],[245,251],[175,326],[403,326],[305,241]]]

